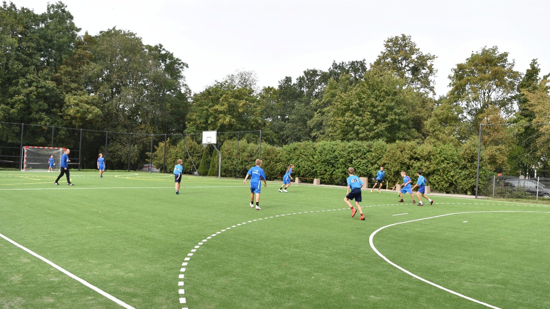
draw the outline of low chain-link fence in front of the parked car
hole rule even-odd
[[[548,201],[550,200],[550,178],[495,175],[487,179],[482,196]]]

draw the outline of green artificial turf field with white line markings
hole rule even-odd
[[[56,176],[0,172],[0,234],[104,295],[0,238],[0,308],[550,308],[546,205],[364,190],[360,221],[342,188]]]

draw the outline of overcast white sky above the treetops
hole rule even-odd
[[[47,1],[13,0],[41,13]],[[53,2],[53,1],[52,1]],[[189,64],[193,92],[237,69],[254,70],[259,86],[277,86],[305,69],[337,62],[373,62],[390,36],[407,34],[438,58],[437,95],[472,51],[498,46],[525,72],[538,58],[550,72],[550,1],[246,1],[64,0],[82,33],[116,26],[161,43]]]

